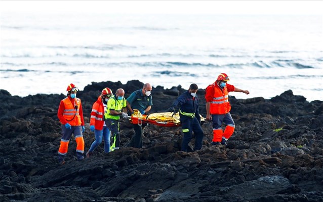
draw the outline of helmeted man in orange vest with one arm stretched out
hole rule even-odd
[[[229,80],[226,73],[220,73],[217,80],[206,88],[207,120],[212,120],[213,123],[213,145],[227,145],[226,141],[234,132],[228,93],[233,91],[249,94],[248,90],[241,90],[227,84]],[[224,132],[221,128],[222,123],[226,125]]]

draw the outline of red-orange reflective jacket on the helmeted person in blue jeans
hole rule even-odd
[[[104,124],[104,106],[102,103],[101,96],[99,96],[98,100],[93,104],[91,111],[91,119],[90,126],[94,126],[96,130],[102,130]]]

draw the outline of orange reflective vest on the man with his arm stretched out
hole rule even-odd
[[[210,102],[211,114],[226,114],[231,110],[229,103],[228,89],[226,87],[221,91],[220,87],[216,84],[212,84],[214,88],[213,100]]]

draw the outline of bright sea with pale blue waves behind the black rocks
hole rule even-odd
[[[0,89],[66,93],[91,82],[138,79],[153,87],[217,75],[269,99],[291,89],[323,100],[322,16],[1,14]],[[101,89],[99,89],[101,90]]]

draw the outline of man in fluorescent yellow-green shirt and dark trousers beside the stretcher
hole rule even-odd
[[[117,89],[115,95],[112,96],[107,103],[104,113],[105,124],[111,132],[112,144],[110,150],[119,148],[120,132],[119,132],[119,119],[121,117],[128,117],[126,111],[126,99],[124,98],[124,89]]]

